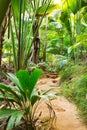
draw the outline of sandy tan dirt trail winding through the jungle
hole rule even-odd
[[[58,84],[59,78],[45,77],[39,80],[37,86],[41,90],[48,90],[48,88],[51,87],[59,87]],[[52,100],[52,105],[57,116],[55,129],[52,130],[87,130],[87,127],[79,118],[76,106],[66,100],[63,96]],[[40,109],[41,108],[44,116],[46,116],[46,106],[42,104],[42,106],[40,106]]]

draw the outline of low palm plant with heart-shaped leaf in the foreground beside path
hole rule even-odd
[[[0,120],[7,119],[6,130],[11,130],[19,124],[22,125],[22,123],[25,124],[23,126],[26,127],[26,130],[35,130],[42,113],[40,111],[36,116],[41,99],[47,100],[48,108],[51,112],[53,111],[49,102],[51,97],[56,96],[49,94],[49,91],[53,88],[46,92],[41,92],[38,88],[35,88],[41,73],[42,70],[40,69],[35,69],[32,74],[29,74],[27,70],[20,70],[17,75],[7,74],[15,86],[0,83],[0,102],[4,102],[4,106],[0,107]],[[53,113],[55,115],[54,111]]]

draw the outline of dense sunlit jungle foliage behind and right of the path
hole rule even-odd
[[[1,0],[0,73],[11,64],[58,72],[87,121],[87,1]]]

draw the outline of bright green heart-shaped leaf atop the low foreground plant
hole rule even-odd
[[[29,75],[29,72],[27,70],[20,70],[17,73],[17,77],[19,79],[19,82],[21,84],[22,89],[26,94],[31,95],[39,77],[41,76],[42,70],[35,69],[31,75]]]

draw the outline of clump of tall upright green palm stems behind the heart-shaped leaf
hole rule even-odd
[[[30,57],[34,63],[37,63],[40,50],[39,28],[44,16],[55,8],[55,5],[51,2],[52,0],[12,0],[17,41],[15,41],[13,25],[11,25],[11,37],[16,71],[26,68],[27,60]],[[18,49],[16,49],[15,45],[17,45]]]

